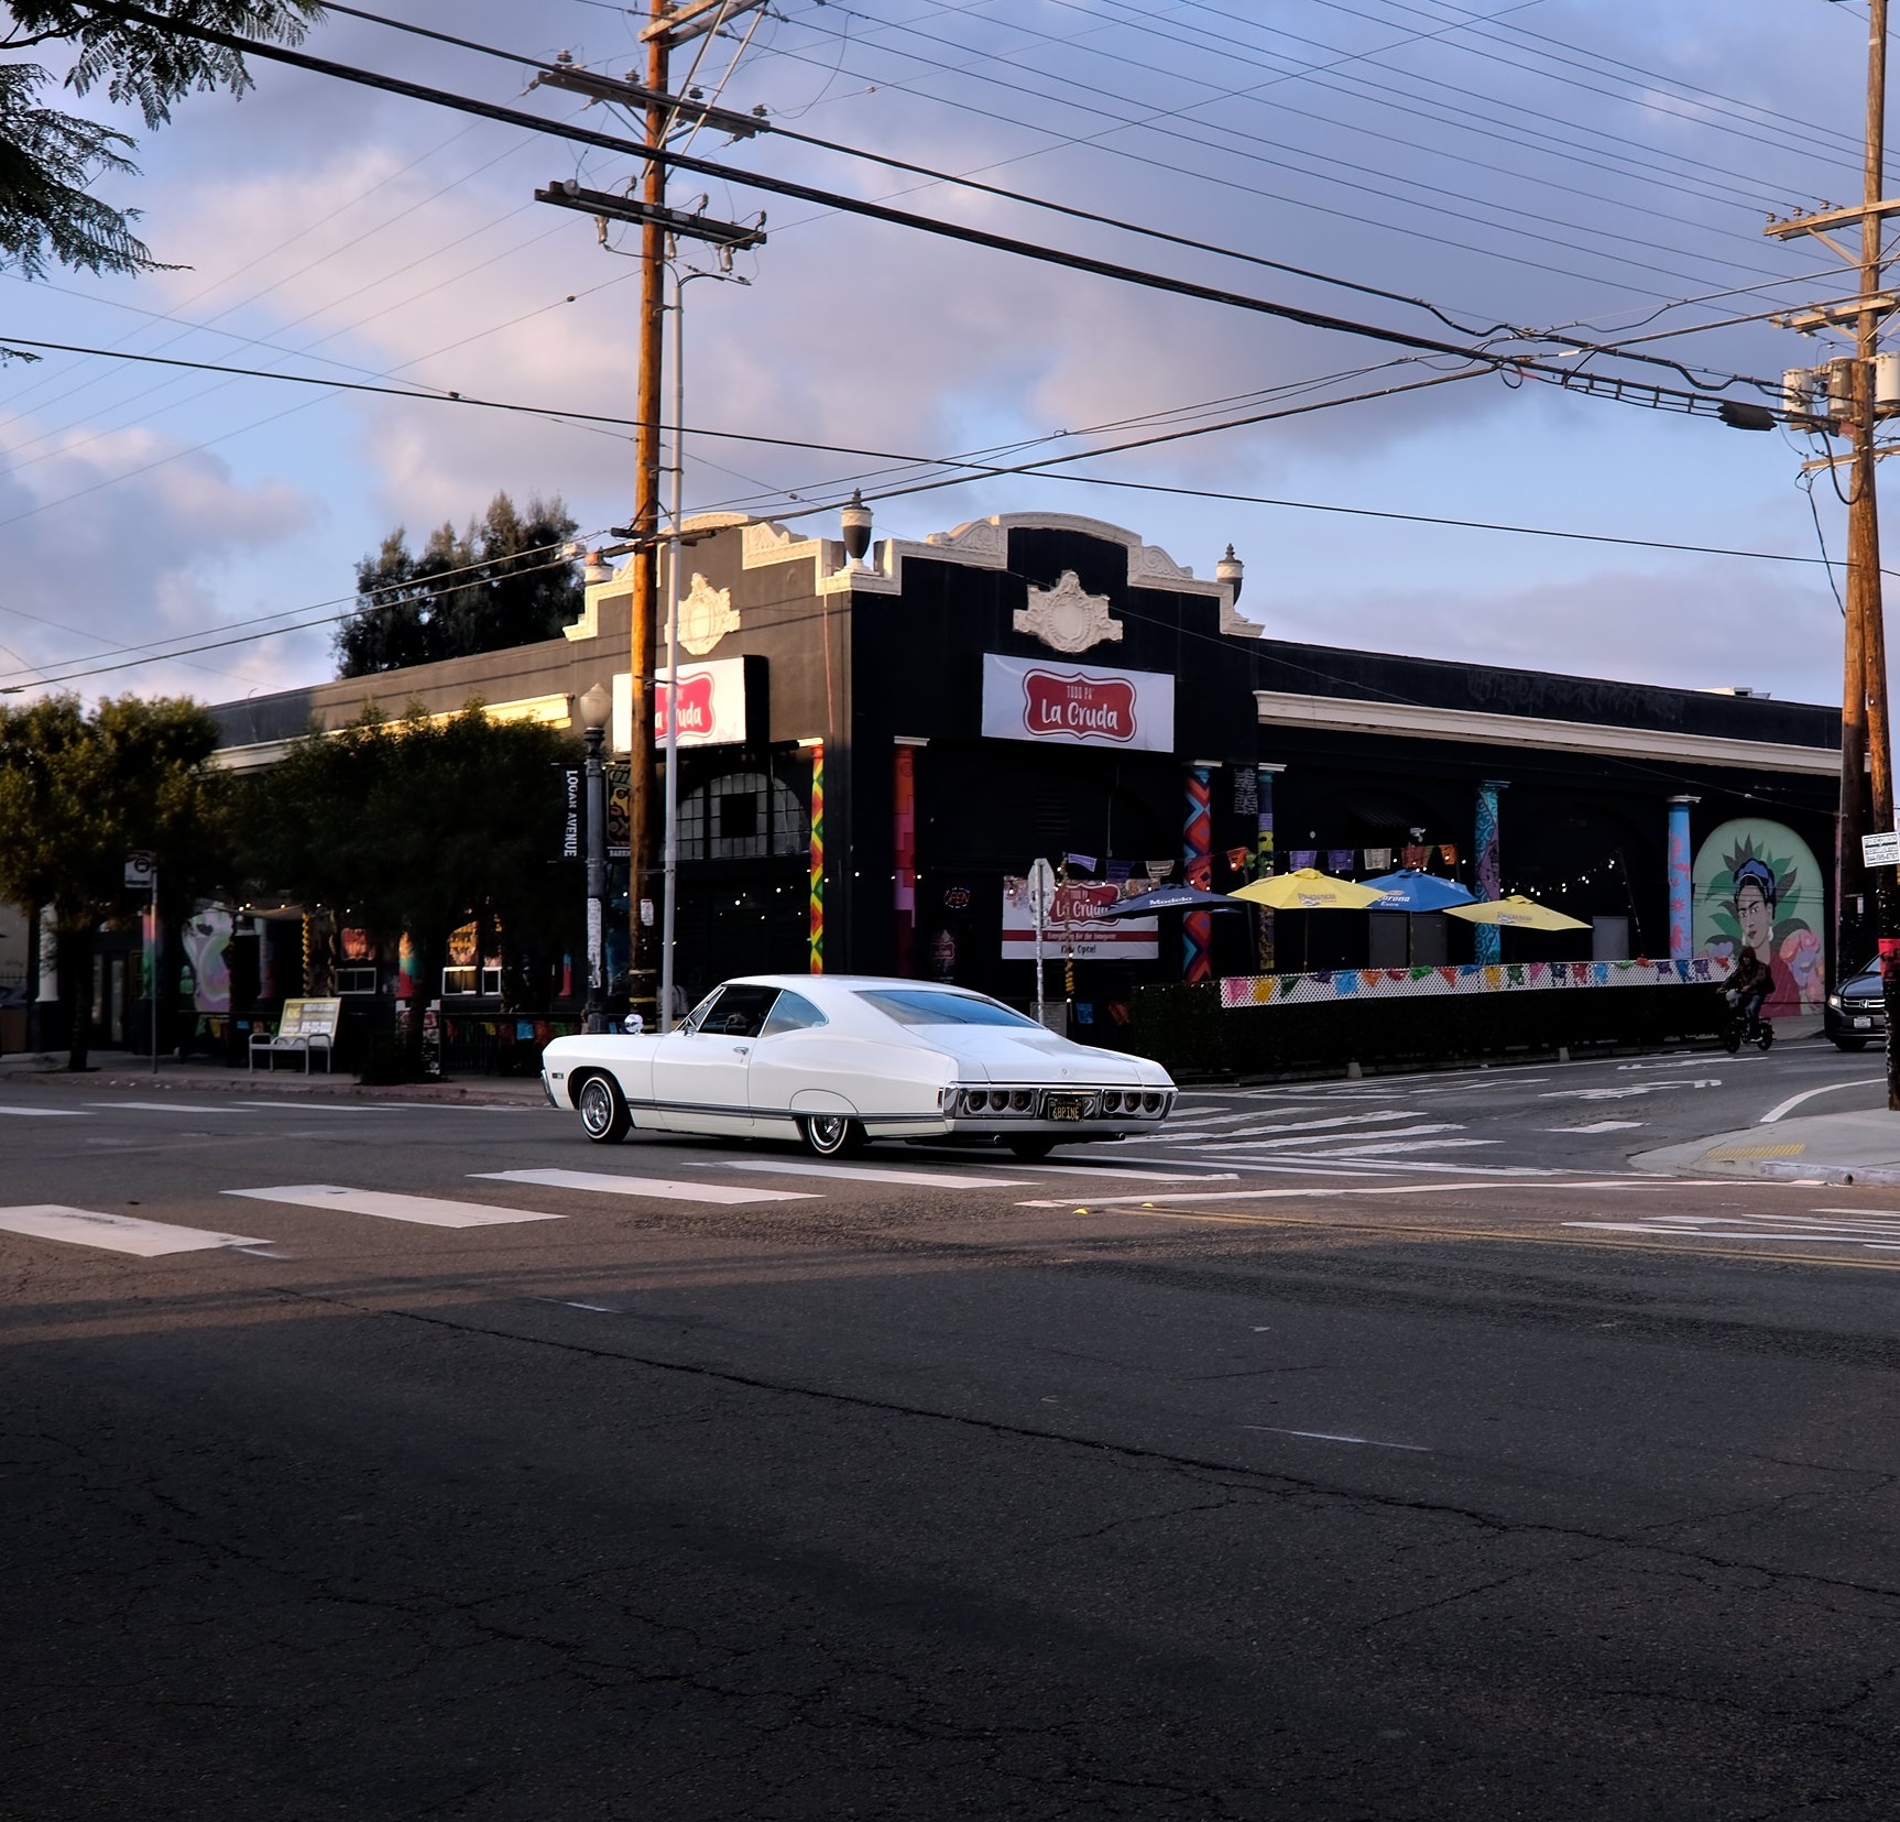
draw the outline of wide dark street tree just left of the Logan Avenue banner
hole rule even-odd
[[[256,889],[327,906],[378,942],[407,933],[433,997],[448,933],[471,918],[500,925],[511,956],[572,946],[580,883],[549,853],[553,768],[578,760],[574,735],[492,722],[479,701],[446,720],[420,705],[399,722],[372,709],[247,781],[243,864]],[[420,1043],[412,1020],[410,1049]]]

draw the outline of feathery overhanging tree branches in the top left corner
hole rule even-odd
[[[165,21],[203,25],[247,38],[296,44],[321,0],[8,0],[0,49],[65,44],[74,61],[63,85],[74,95],[104,87],[137,106],[154,131],[192,89],[251,87],[243,57]],[[158,15],[152,19],[135,13]],[[49,262],[87,272],[150,272],[160,262],[131,232],[137,209],[95,196],[103,177],[127,175],[133,141],[78,114],[42,103],[53,72],[40,63],[0,65],[0,266],[42,277]]]

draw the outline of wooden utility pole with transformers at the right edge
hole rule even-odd
[[[1887,1106],[1900,1111],[1900,891],[1892,866],[1868,868],[1862,861],[1862,838],[1872,825],[1887,832],[1894,826],[1892,741],[1887,720],[1887,629],[1881,600],[1881,519],[1875,469],[1887,452],[1875,443],[1883,407],[1877,367],[1883,321],[1894,310],[1894,298],[1883,291],[1885,220],[1900,211],[1900,199],[1881,192],[1887,188],[1887,4],[1868,6],[1868,127],[1858,209],[1826,209],[1816,215],[1769,222],[1769,236],[1788,239],[1811,234],[1843,264],[1858,266],[1860,291],[1852,300],[1796,312],[1782,321],[1786,327],[1824,329],[1852,327],[1854,353],[1830,382],[1828,410],[1835,431],[1845,433],[1852,448],[1847,456],[1828,456],[1809,467],[1845,467],[1847,488],[1847,627],[1841,663],[1841,794],[1835,828],[1835,977],[1843,978],[1849,961],[1847,948],[1864,950],[1868,921],[1866,891],[1873,885],[1879,937],[1881,980],[1887,996],[1887,1028],[1894,1035],[1887,1043]],[[1830,228],[1856,224],[1856,251],[1830,237]],[[1845,397],[1839,378],[1847,380]],[[1843,408],[1845,407],[1845,408]],[[1856,906],[1856,912],[1851,912]]]

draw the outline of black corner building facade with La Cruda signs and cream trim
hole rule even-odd
[[[1157,876],[1220,891],[1296,864],[1423,864],[1592,925],[1539,958],[1750,940],[1782,1013],[1826,992],[1834,709],[1271,638],[1243,617],[1237,574],[1197,578],[1102,521],[980,519],[855,562],[766,521],[690,532],[688,994],[821,967],[1026,1001],[1037,857],[1066,874],[1051,996],[1085,1020],[1146,980],[1497,959],[1495,933],[1438,918],[1094,916]],[[593,684],[616,690],[625,750],[627,589],[589,587],[560,640],[222,705],[222,762],[270,764],[369,701],[452,712],[479,695],[570,726]]]

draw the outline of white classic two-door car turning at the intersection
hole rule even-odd
[[[1161,1064],[1070,1043],[963,988],[851,975],[749,975],[665,1035],[557,1037],[542,1085],[600,1146],[638,1127],[802,1138],[819,1157],[925,1138],[1032,1159],[1153,1130],[1174,1106]]]

